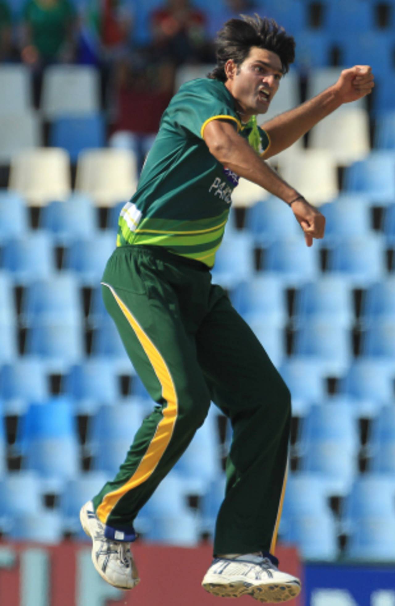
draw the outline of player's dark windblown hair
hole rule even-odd
[[[279,56],[282,73],[287,73],[295,59],[295,39],[287,35],[274,19],[240,15],[241,19],[229,19],[215,39],[217,67],[207,77],[226,82],[225,64],[233,59],[240,67],[253,46],[265,48]]]

